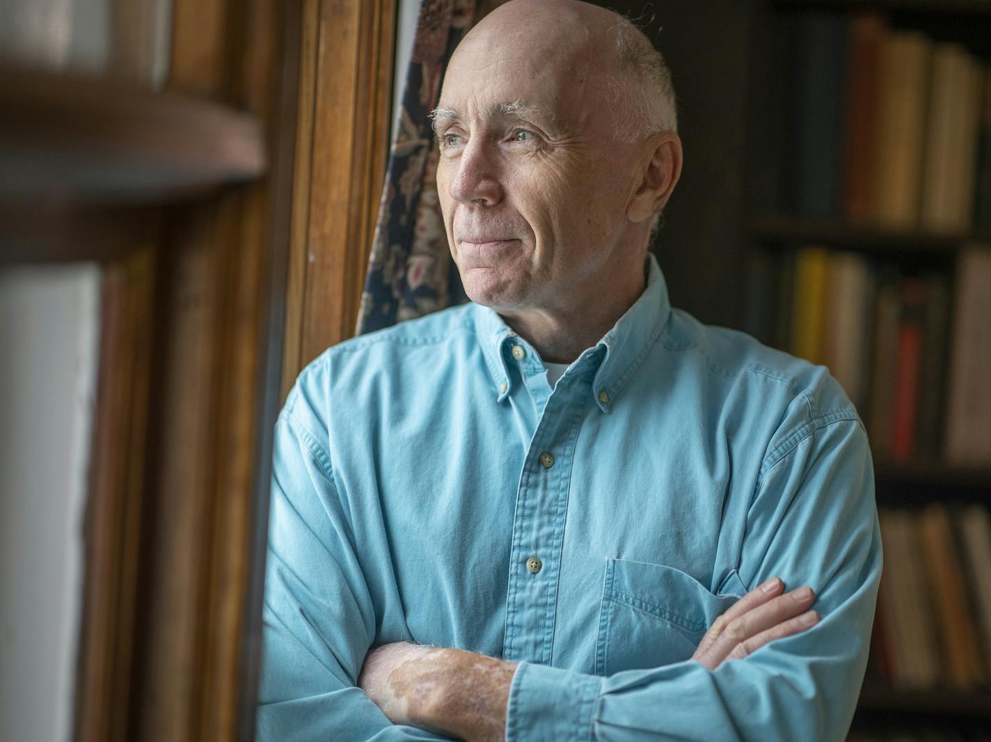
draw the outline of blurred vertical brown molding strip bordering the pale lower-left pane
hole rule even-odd
[[[154,247],[104,266],[85,591],[76,681],[78,742],[124,742],[131,700],[148,436]]]

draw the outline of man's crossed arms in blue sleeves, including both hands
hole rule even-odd
[[[767,467],[739,561],[770,592],[735,603],[692,660],[603,678],[415,645],[370,655],[411,637],[384,630],[389,578],[363,564],[329,457],[296,422],[276,426],[260,740],[844,737],[880,577],[859,423],[817,423]],[[811,627],[813,596],[778,575],[816,588]]]

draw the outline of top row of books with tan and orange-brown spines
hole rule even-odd
[[[947,234],[991,227],[991,67],[876,12],[791,22],[793,211]]]

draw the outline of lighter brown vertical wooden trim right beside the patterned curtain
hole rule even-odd
[[[394,0],[304,0],[282,390],[355,333],[388,157]]]

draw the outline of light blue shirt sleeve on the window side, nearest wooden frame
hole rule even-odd
[[[300,396],[294,388],[275,424],[256,738],[447,739],[393,725],[356,686],[375,609],[330,457],[294,409]]]

